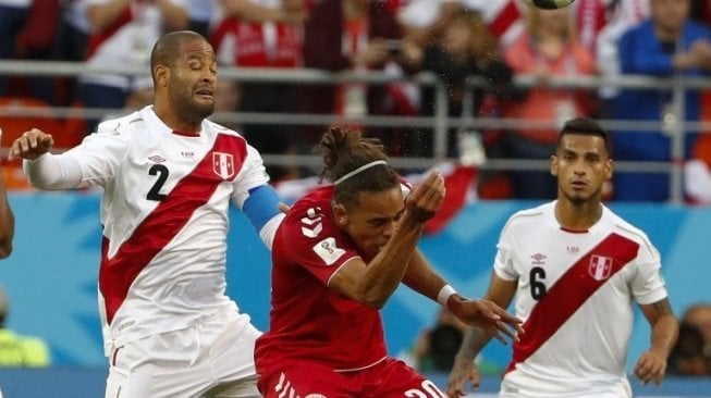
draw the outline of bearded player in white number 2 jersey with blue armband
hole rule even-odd
[[[194,32],[151,53],[154,104],[102,123],[62,154],[32,129],[11,157],[42,189],[103,188],[99,301],[106,397],[259,397],[259,332],[225,296],[228,210],[267,246],[283,215],[259,153],[213,111],[214,52]]]

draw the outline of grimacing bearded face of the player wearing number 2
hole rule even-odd
[[[181,57],[171,66],[169,96],[176,114],[200,122],[214,110],[217,60],[205,40],[184,41]]]

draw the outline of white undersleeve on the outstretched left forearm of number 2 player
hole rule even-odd
[[[72,189],[82,183],[82,166],[76,159],[63,154],[44,153],[35,160],[24,160],[23,170],[32,186],[39,189]]]

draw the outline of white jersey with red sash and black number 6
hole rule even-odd
[[[502,396],[630,397],[633,301],[666,297],[659,252],[608,208],[583,233],[561,228],[554,209],[517,212],[498,245],[494,272],[518,281],[515,312],[526,331]]]

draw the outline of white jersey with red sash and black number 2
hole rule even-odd
[[[225,296],[230,202],[268,183],[237,133],[204,121],[173,132],[146,107],[65,152],[82,187],[101,186],[99,301],[107,348],[187,327],[236,304]],[[226,320],[225,320],[226,322]]]

